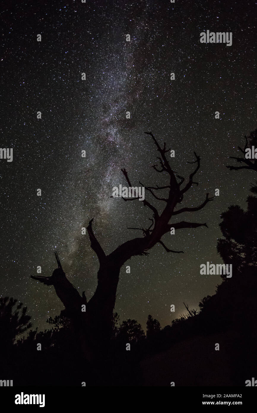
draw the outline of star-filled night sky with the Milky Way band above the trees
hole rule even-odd
[[[196,308],[215,293],[219,275],[200,275],[200,264],[222,262],[220,214],[231,204],[245,207],[255,179],[226,165],[257,127],[256,13],[257,2],[238,0],[5,2],[0,146],[13,148],[13,161],[0,160],[0,295],[22,301],[33,327],[46,328],[63,309],[54,287],[30,278],[37,266],[52,274],[54,251],[80,294],[92,297],[98,260],[81,235],[92,217],[106,254],[140,236],[127,227],[149,225],[141,202],[110,197],[126,185],[124,167],[135,186],[167,185],[151,168],[158,153],[144,131],[175,151],[172,167],[182,176],[194,167],[186,164],[193,152],[201,157],[199,185],[179,207],[201,204],[216,188],[220,195],[175,217],[209,226],[165,235],[167,247],[184,254],[157,244],[125,264],[130,274],[123,266],[115,311],[143,328],[151,314],[164,327],[184,312],[183,301]],[[232,32],[232,45],[200,43],[207,30]]]

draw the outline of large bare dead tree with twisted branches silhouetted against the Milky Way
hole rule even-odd
[[[119,281],[120,268],[132,256],[149,254],[149,250],[156,244],[160,244],[167,252],[182,253],[182,251],[174,251],[168,248],[162,241],[163,235],[169,233],[170,228],[172,227],[175,230],[179,230],[184,228],[207,227],[207,224],[191,221],[172,222],[172,218],[184,212],[190,213],[199,211],[213,199],[212,197],[209,197],[209,194],[206,194],[202,204],[196,207],[176,209],[177,204],[182,202],[184,195],[192,185],[198,185],[198,183],[193,181],[193,178],[200,168],[200,157],[194,152],[196,160],[188,163],[195,163],[196,168],[185,182],[185,178],[174,172],[167,160],[166,153],[169,152],[170,149],[166,149],[166,143],[164,143],[162,148],[151,132],[145,133],[153,139],[157,151],[160,154],[158,157],[160,166],[153,165],[152,167],[157,173],[166,174],[168,179],[164,186],[159,187],[156,185],[145,187],[154,199],[163,202],[163,209],[162,211],[158,211],[157,208],[146,199],[139,202],[139,204],[143,204],[144,207],[148,208],[149,212],[151,212],[151,218],[149,218],[151,225],[149,228],[134,228],[141,230],[143,236],[135,237],[132,240],[124,242],[124,244],[119,245],[113,252],[111,252],[111,254],[106,255],[94,235],[92,228],[94,218],[91,219],[87,226],[87,232],[90,238],[91,247],[97,254],[99,260],[99,270],[97,274],[97,289],[88,302],[86,302],[85,295],[80,297],[80,294],[67,280],[61,268],[55,270],[52,277],[48,279],[37,276],[33,277],[35,280],[44,282],[47,285],[54,285],[58,297],[65,306],[66,315],[73,318],[73,320],[76,320],[75,323],[77,323],[77,325],[79,323],[84,323],[87,339],[90,340],[90,346],[98,351],[98,353],[107,345],[106,343],[108,343],[110,339],[112,315],[116,301],[116,290]],[[122,169],[122,172],[128,185],[132,187],[127,171]],[[156,193],[163,193],[163,191],[166,192],[166,195],[156,195]],[[127,202],[138,198],[125,199],[123,197],[123,199]],[[82,320],[81,305],[83,302],[86,303],[86,313]]]

